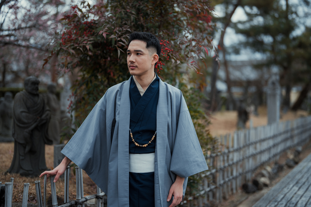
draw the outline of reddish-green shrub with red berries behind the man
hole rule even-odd
[[[77,74],[69,106],[75,111],[77,126],[109,87],[130,77],[125,51],[128,35],[133,31],[151,32],[160,39],[162,51],[155,71],[174,86],[181,83],[182,64],[200,73],[206,68],[199,67],[198,60],[206,58],[213,49],[211,7],[207,0],[119,0],[94,6],[81,2],[80,6],[73,5],[62,20],[63,30],[51,44],[51,55],[45,61],[56,54],[60,74]],[[200,95],[185,85],[180,89],[202,148],[211,149],[215,139],[206,130],[208,119],[200,109]],[[194,196],[200,179],[189,179],[188,195]]]

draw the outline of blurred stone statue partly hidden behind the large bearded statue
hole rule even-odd
[[[47,106],[51,110],[51,120],[49,123],[49,138],[53,140],[53,144],[59,144],[60,140],[60,103],[55,95],[56,86],[54,84],[48,85]]]

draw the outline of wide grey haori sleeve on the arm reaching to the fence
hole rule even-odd
[[[106,112],[107,94],[91,110],[62,153],[85,170],[90,178],[107,193],[108,162],[111,149],[111,121]]]

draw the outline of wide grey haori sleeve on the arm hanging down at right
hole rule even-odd
[[[173,139],[170,171],[186,178],[208,170],[197,133],[186,104],[181,95],[180,111],[177,117],[176,137]]]

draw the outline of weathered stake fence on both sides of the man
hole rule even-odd
[[[202,186],[196,198],[185,198],[183,206],[203,207],[207,201],[222,202],[236,193],[243,183],[250,182],[253,173],[263,164],[279,159],[280,154],[292,147],[303,146],[311,138],[311,116],[299,118],[248,130],[236,131],[220,136],[220,152],[206,155],[209,170],[200,174]],[[97,187],[97,194],[83,195],[82,170],[76,167],[76,200],[69,202],[69,166],[65,171],[64,204],[58,205],[56,188],[50,176],[53,207],[84,207],[84,202],[97,199],[97,207],[103,207],[105,196]],[[5,183],[5,207],[12,207],[13,181]],[[46,175],[44,176],[44,196],[41,197],[40,181],[35,181],[38,207],[46,207]],[[1,182],[0,182],[1,186]],[[27,207],[29,183],[24,184],[22,207]],[[1,190],[1,188],[0,188]]]

